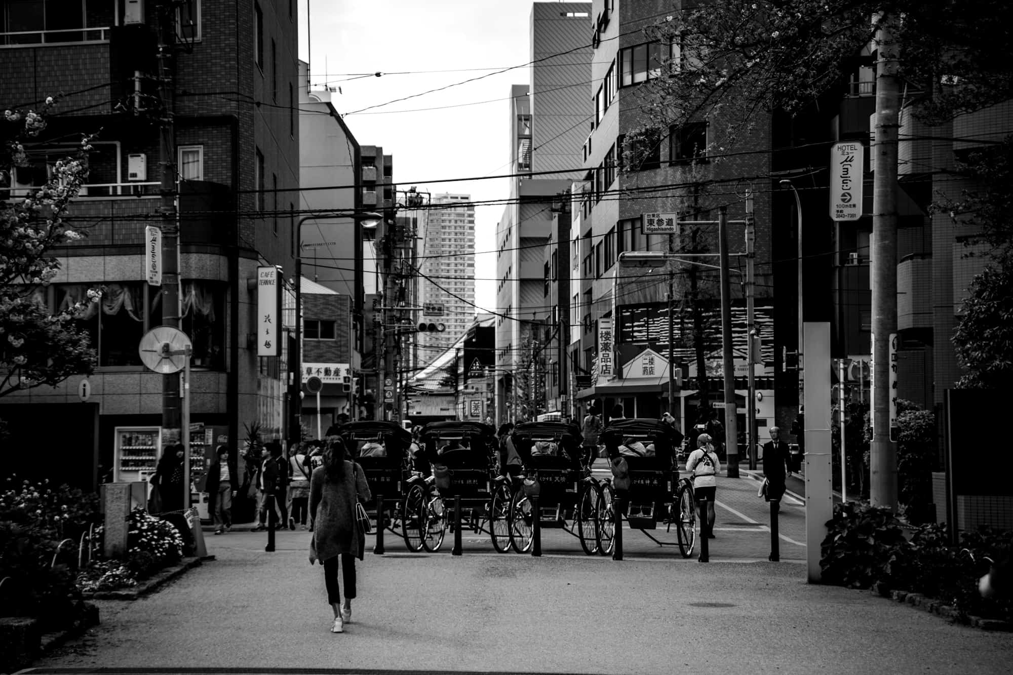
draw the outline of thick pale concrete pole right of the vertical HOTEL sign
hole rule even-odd
[[[897,511],[897,445],[890,441],[890,333],[897,332],[897,155],[901,86],[898,18],[883,15],[876,30],[875,171],[872,178],[872,443],[869,498],[873,506]]]

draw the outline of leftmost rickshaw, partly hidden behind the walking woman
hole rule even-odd
[[[413,471],[409,447],[411,434],[396,422],[366,420],[335,425],[327,436],[340,436],[353,458],[363,467],[377,507],[378,548],[383,551],[381,521],[383,526],[404,539],[408,550],[422,549],[418,527],[420,495],[424,493],[424,477]],[[393,503],[393,518],[383,518],[385,505]]]

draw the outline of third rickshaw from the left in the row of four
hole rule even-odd
[[[601,489],[585,463],[579,432],[562,422],[527,422],[514,428],[512,439],[524,462],[525,476],[511,505],[514,550],[521,553],[531,548],[538,518],[540,528],[561,529],[580,540],[583,552],[597,553],[601,547]]]

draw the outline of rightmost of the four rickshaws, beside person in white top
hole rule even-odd
[[[610,463],[618,457],[629,467],[629,489],[617,491],[615,478],[606,478],[602,489],[601,546],[611,553],[615,545],[615,502],[621,498],[623,517],[630,529],[643,532],[660,546],[674,545],[660,541],[647,530],[666,525],[671,532],[675,524],[679,551],[683,557],[693,554],[696,542],[696,509],[693,485],[688,478],[679,479],[675,462],[675,431],[659,420],[630,419],[609,423],[602,432],[602,442]]]

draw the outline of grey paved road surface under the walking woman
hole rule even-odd
[[[724,478],[718,499],[752,492],[751,513],[763,512],[756,485]],[[719,524],[751,517],[725,507]],[[804,521],[787,510],[790,523]],[[627,548],[623,561],[586,556],[575,539],[547,545],[541,558],[496,554],[479,537],[465,537],[460,557],[449,548],[407,553],[391,539],[386,555],[368,553],[359,564],[354,621],[342,634],[329,632],[322,570],[308,564],[307,533],[278,533],[271,553],[263,551],[263,533],[211,536],[217,559],[148,598],[99,601],[101,625],[36,667],[1009,672],[1008,633],[950,624],[868,592],[806,584],[804,565],[766,561],[769,533],[725,527],[711,542],[710,564],[656,546]],[[630,547],[639,535],[627,533]]]

